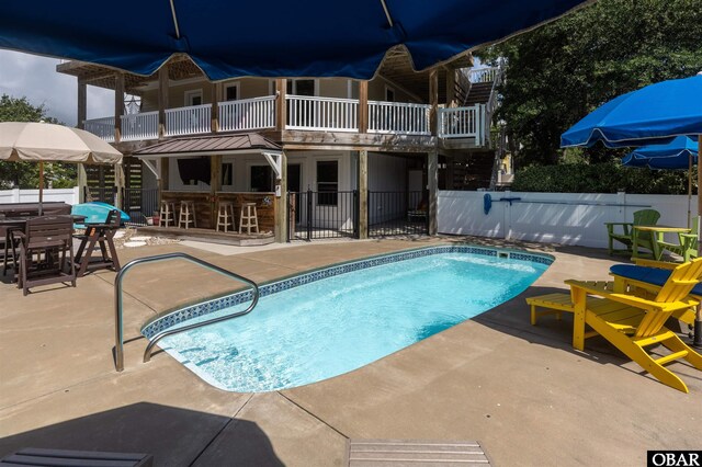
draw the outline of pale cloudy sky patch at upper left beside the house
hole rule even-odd
[[[56,72],[57,58],[0,50],[0,95],[26,98],[32,105],[44,104],[46,115],[76,126],[78,79]],[[114,91],[88,86],[88,118],[114,114]]]

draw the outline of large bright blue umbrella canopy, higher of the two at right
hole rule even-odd
[[[600,106],[561,135],[561,147],[666,144],[702,134],[702,76],[647,86]]]

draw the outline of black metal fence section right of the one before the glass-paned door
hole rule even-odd
[[[427,193],[421,191],[369,191],[369,237],[427,235]]]

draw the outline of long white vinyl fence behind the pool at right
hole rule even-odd
[[[692,216],[697,203],[693,196]],[[440,191],[438,226],[440,234],[607,248],[604,223],[631,223],[635,210],[646,208],[660,213],[659,225],[688,225],[687,195]]]

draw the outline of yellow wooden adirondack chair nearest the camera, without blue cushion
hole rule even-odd
[[[607,283],[566,281],[575,307],[573,345],[584,350],[585,326],[588,324],[659,381],[689,392],[682,379],[663,365],[684,358],[702,371],[702,355],[664,324],[672,314],[698,305],[690,297],[690,291],[700,278],[702,259],[680,264],[653,299],[612,292],[603,285]],[[602,298],[593,299],[588,295]],[[655,358],[646,352],[646,348],[654,344],[663,344],[671,353]]]

